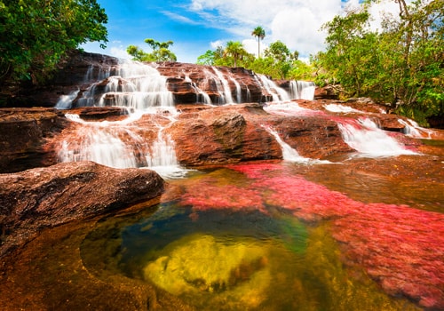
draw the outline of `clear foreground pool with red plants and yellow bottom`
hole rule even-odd
[[[83,241],[83,264],[153,283],[199,310],[413,310],[376,275],[388,267],[419,282],[406,259],[427,270],[440,251],[442,214],[418,209],[439,209],[440,190],[415,199],[400,195],[408,185],[374,187],[382,181],[347,178],[347,163],[195,171],[170,181],[164,203],[101,221]]]

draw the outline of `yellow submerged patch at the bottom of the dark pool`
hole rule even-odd
[[[232,242],[219,242],[212,235],[188,235],[148,263],[144,275],[178,296],[204,299],[208,295],[207,299],[229,298],[257,307],[271,280],[268,250],[252,239]]]

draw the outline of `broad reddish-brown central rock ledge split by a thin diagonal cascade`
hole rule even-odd
[[[186,109],[168,129],[186,166],[281,159],[281,146],[263,125],[301,156],[323,158],[353,149],[342,140],[337,124],[319,116],[275,116],[258,104]]]

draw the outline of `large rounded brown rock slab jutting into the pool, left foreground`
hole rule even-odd
[[[114,211],[163,191],[163,179],[154,171],[92,162],[0,174],[0,184],[0,256],[45,227]]]

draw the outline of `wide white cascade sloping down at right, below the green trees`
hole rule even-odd
[[[400,142],[387,135],[368,118],[338,123],[338,126],[345,143],[360,152],[362,156],[416,155],[415,152],[404,148]]]

